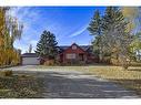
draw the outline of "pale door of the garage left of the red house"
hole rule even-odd
[[[38,57],[22,57],[23,65],[32,65],[32,64],[40,64]]]

